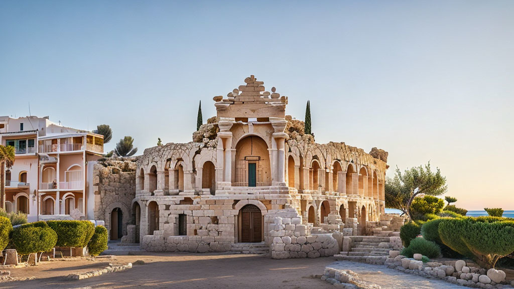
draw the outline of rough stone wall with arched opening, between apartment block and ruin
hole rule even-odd
[[[122,232],[119,236],[127,235],[127,225],[132,223],[132,200],[136,196],[135,178],[135,159],[101,159],[93,167],[94,216],[96,220],[105,221],[111,240],[119,239],[118,236],[112,236],[112,226],[118,224],[118,220],[112,220],[113,210],[116,210],[115,215],[121,211],[122,223],[119,228],[122,228]],[[116,234],[118,228],[114,232]]]

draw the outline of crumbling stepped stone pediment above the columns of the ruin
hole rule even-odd
[[[246,85],[238,88],[227,95],[215,96],[217,117],[229,118],[268,118],[285,117],[287,97],[276,93],[274,87],[271,93],[266,91],[263,81],[257,81],[252,75],[245,79]]]

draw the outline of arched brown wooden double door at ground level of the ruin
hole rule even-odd
[[[239,211],[240,215],[240,242],[262,242],[262,213],[255,205],[246,205]]]

